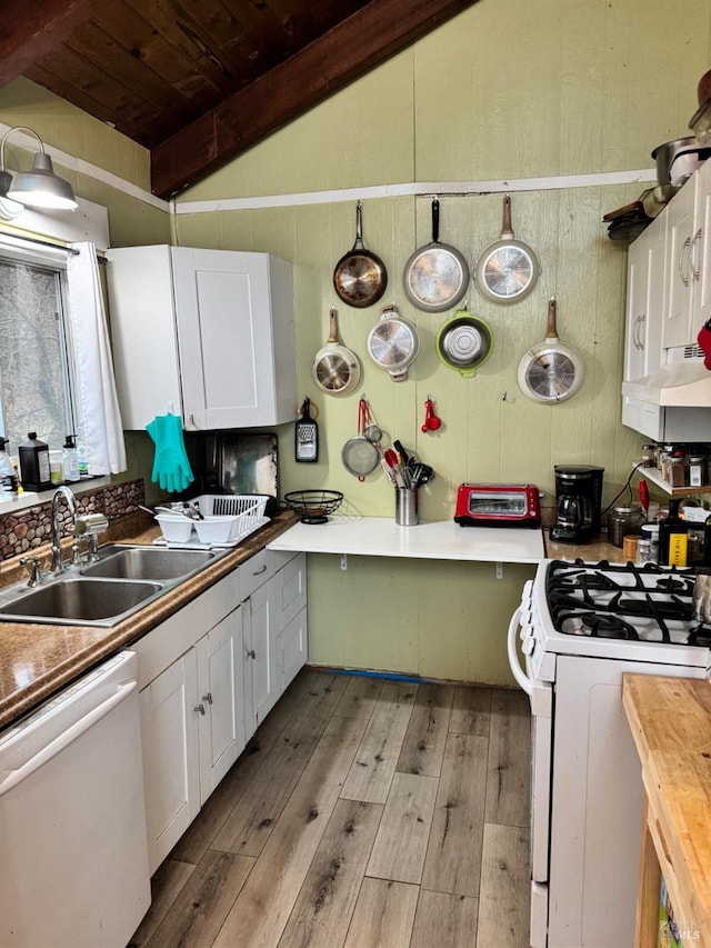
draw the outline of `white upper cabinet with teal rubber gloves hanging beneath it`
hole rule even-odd
[[[180,413],[186,430],[251,428],[297,413],[291,265],[187,247],[108,251],[123,425]]]

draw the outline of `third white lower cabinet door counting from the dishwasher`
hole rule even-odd
[[[277,701],[274,579],[256,590],[244,615],[244,699],[250,735]],[[249,618],[248,618],[249,616]]]

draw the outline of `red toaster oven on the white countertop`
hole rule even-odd
[[[540,527],[533,483],[460,483],[454,520],[462,527]]]

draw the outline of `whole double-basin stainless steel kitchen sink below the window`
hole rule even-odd
[[[0,589],[0,621],[116,626],[229,550],[176,550],[110,543],[96,562]]]

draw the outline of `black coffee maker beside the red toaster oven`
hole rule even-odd
[[[604,468],[555,465],[555,523],[551,540],[589,543],[600,536]]]

